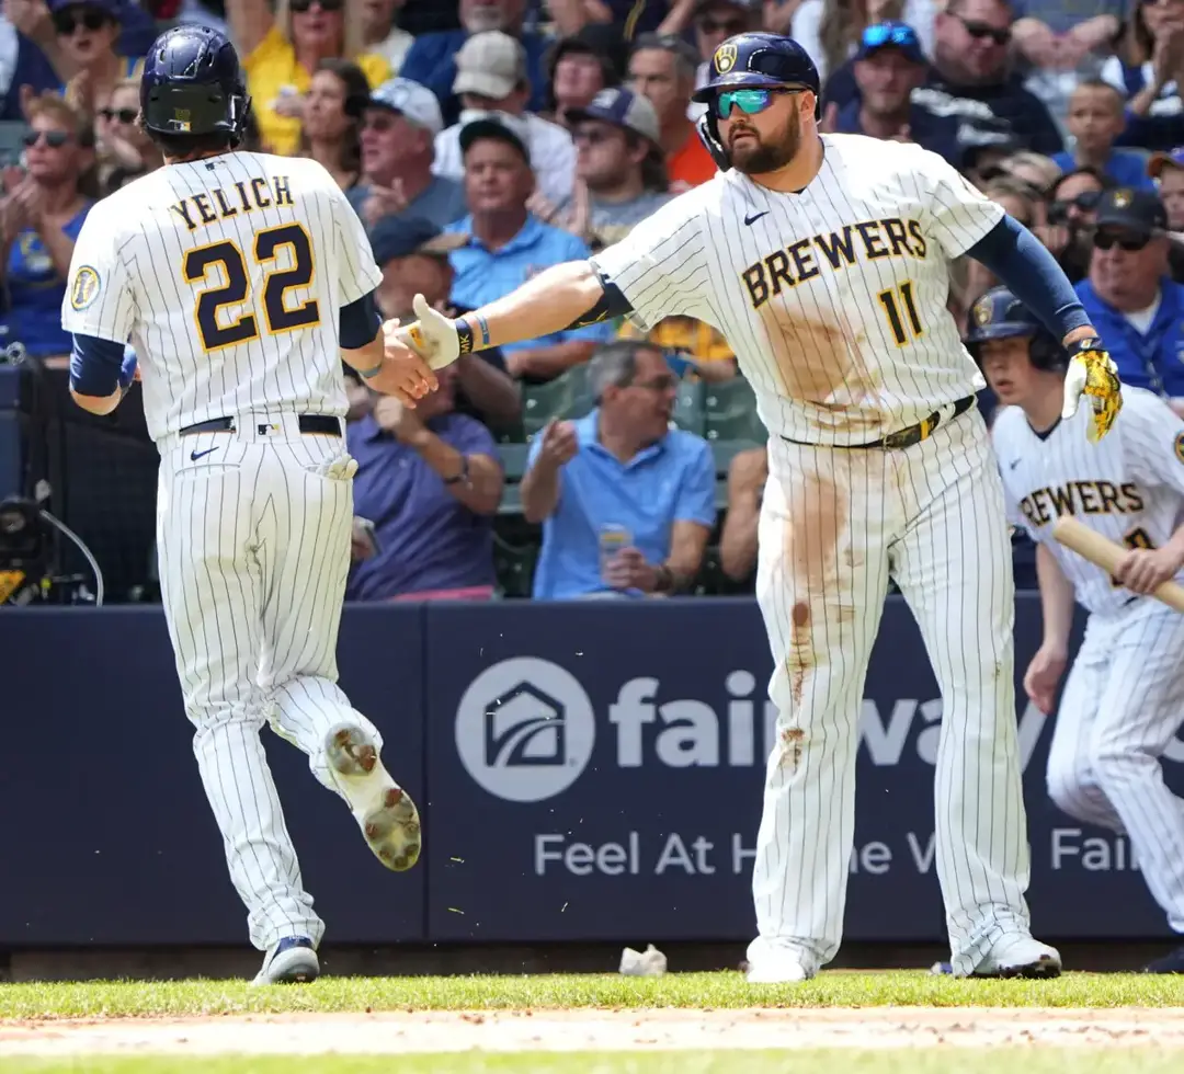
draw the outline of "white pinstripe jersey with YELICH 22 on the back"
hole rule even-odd
[[[380,281],[321,165],[225,153],[159,168],[90,212],[62,326],[130,340],[154,439],[252,411],[340,417],[337,310]]]

